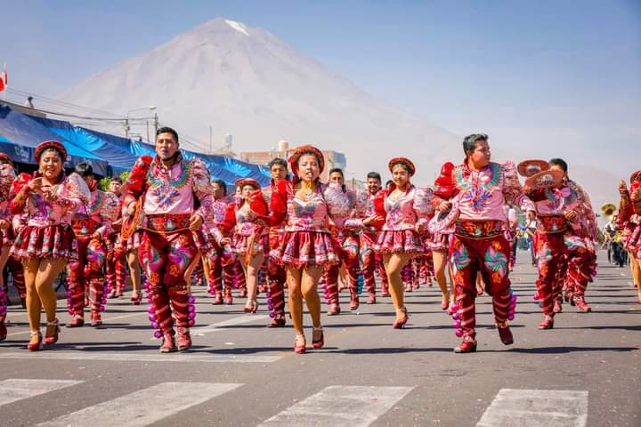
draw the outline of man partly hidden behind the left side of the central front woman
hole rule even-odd
[[[271,204],[272,192],[278,191],[280,181],[287,181],[288,164],[284,159],[277,157],[272,159],[269,166],[270,173],[272,173],[272,180],[270,181],[269,188],[263,189],[263,193]],[[270,227],[270,251],[278,249],[284,233],[285,227],[282,224],[276,227]],[[267,327],[285,326],[285,283],[287,281],[287,274],[278,260],[272,257],[272,254],[270,254],[267,261],[267,275],[269,279],[267,305],[272,311],[270,313],[272,320],[267,324]]]

